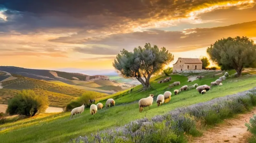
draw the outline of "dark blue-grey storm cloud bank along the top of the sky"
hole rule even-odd
[[[147,23],[151,20],[185,17],[188,11],[226,0],[1,0],[7,21],[0,31],[21,33],[47,31],[51,28],[91,30]],[[111,28],[110,28],[111,30]]]

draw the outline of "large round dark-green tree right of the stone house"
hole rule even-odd
[[[238,76],[243,67],[253,67],[256,62],[256,44],[247,37],[218,40],[207,48],[207,53],[221,70],[235,69]]]

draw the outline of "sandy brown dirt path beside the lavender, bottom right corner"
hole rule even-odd
[[[256,109],[235,119],[225,120],[225,123],[207,130],[202,137],[194,138],[190,143],[246,143],[250,132],[244,124],[249,122],[253,114],[256,114]]]

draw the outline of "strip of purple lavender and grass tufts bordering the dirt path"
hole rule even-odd
[[[234,114],[243,113],[256,105],[256,88],[208,102],[177,108],[165,115],[151,119],[143,118],[123,127],[103,130],[91,136],[71,139],[70,142],[84,143],[183,143],[186,134],[200,136],[200,126],[213,125]],[[199,123],[200,122],[200,123]],[[250,120],[249,130],[256,135],[256,116]]]

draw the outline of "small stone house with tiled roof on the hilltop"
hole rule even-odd
[[[202,61],[199,58],[181,58],[173,64],[173,72],[184,70],[202,70]]]

